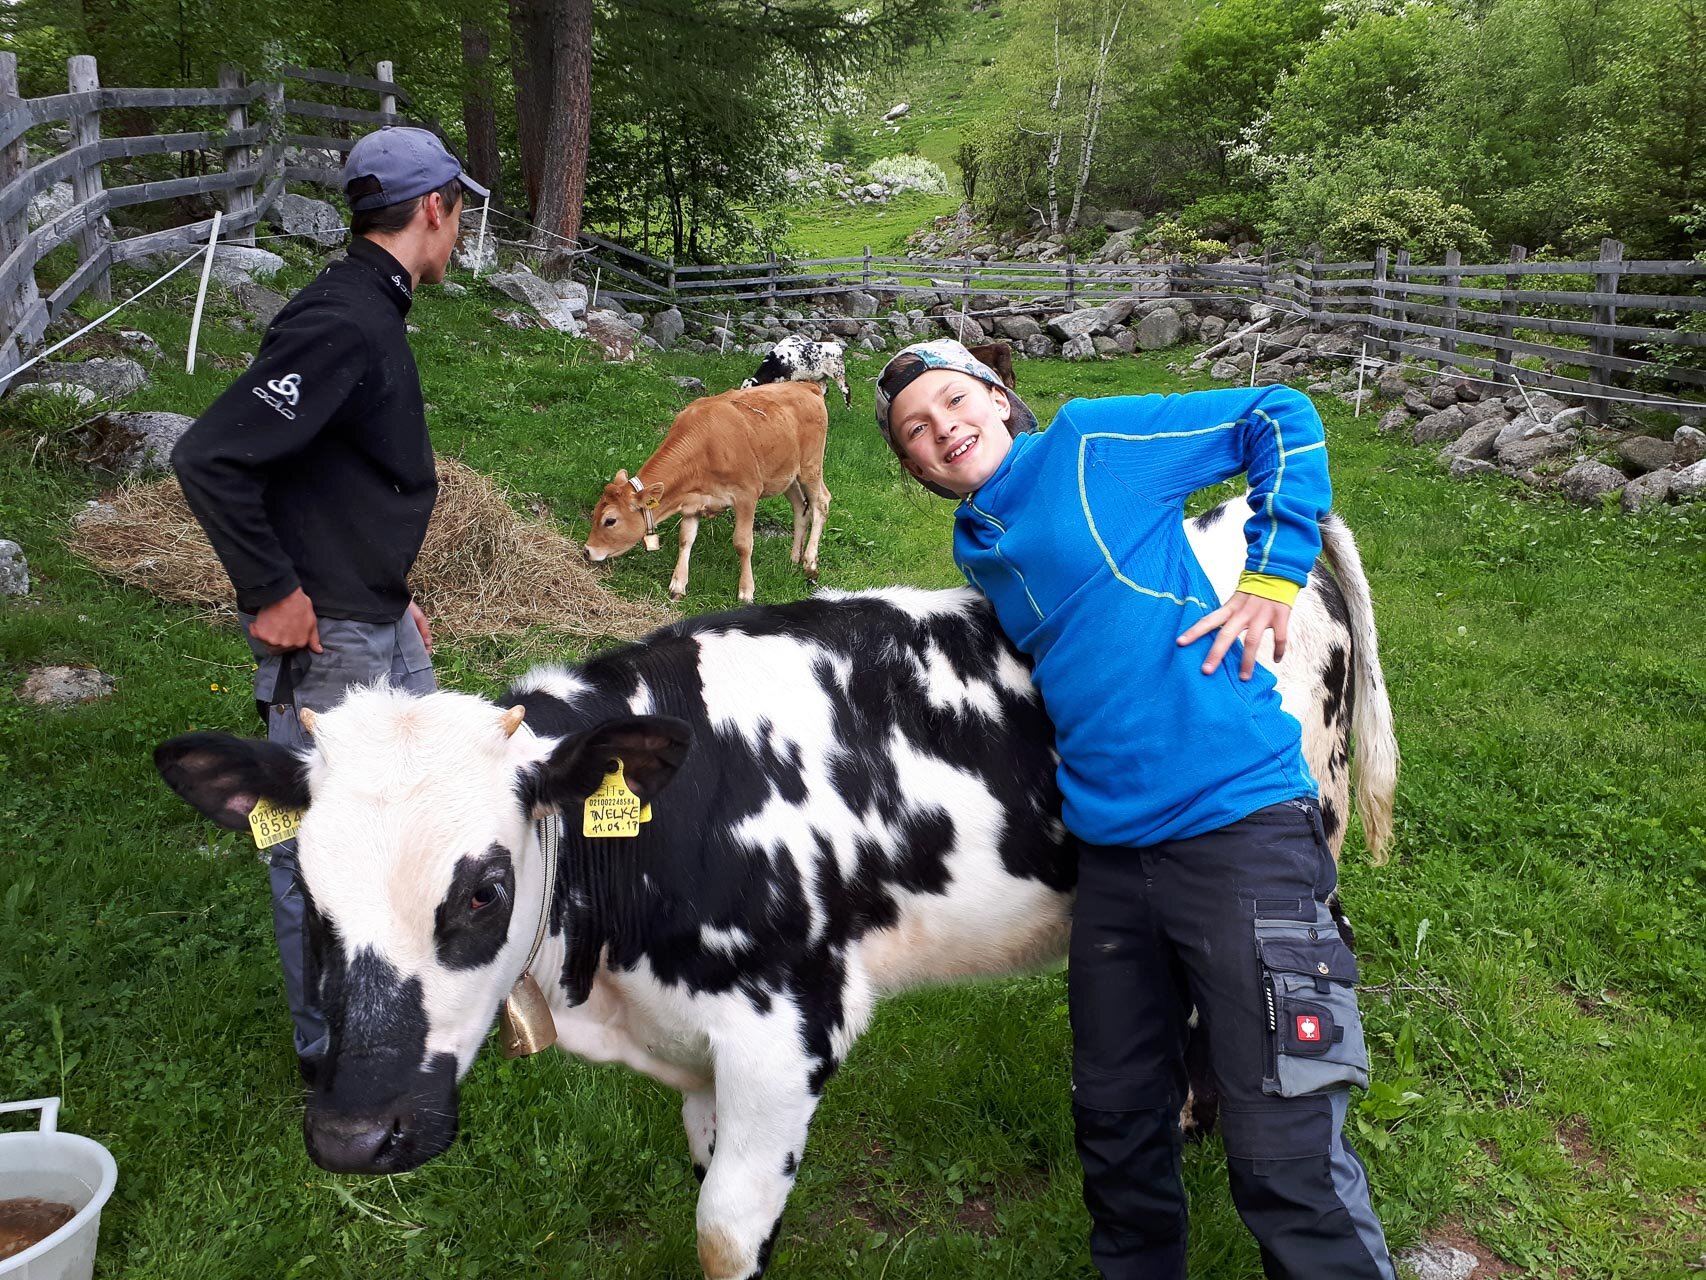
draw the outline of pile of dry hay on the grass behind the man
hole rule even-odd
[[[75,521],[68,544],[131,587],[230,608],[230,580],[176,480],[106,495]],[[433,630],[447,637],[546,626],[633,638],[672,616],[601,585],[578,544],[549,521],[517,515],[495,481],[449,457],[438,459],[438,505],[409,580]]]

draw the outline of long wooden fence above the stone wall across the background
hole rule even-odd
[[[1527,261],[1512,246],[1503,263],[1464,263],[1454,251],[1440,266],[1411,263],[1404,251],[1378,249],[1370,261],[1329,263],[1259,259],[1150,265],[1080,263],[1071,254],[1047,263],[991,263],[974,258],[884,258],[867,249],[858,258],[812,258],[718,266],[677,266],[597,236],[583,236],[585,265],[614,280],[606,294],[653,304],[677,304],[699,314],[720,314],[739,304],[781,307],[804,297],[853,290],[904,304],[909,295],[935,294],[959,300],[974,317],[1020,309],[1095,304],[1114,297],[1266,302],[1307,319],[1317,331],[1356,324],[1377,355],[1419,357],[1508,382],[1575,393],[1590,406],[1621,401],[1668,401],[1629,386],[1636,375],[1655,384],[1706,387],[1706,369],[1655,362],[1629,350],[1706,348],[1706,331],[1680,324],[1706,311],[1706,265],[1697,261],[1626,259],[1622,244],[1607,239],[1590,261]],[[1549,278],[1561,280],[1552,287]],[[1631,290],[1629,283],[1648,283]],[[1628,323],[1619,312],[1648,312],[1650,323]],[[1587,340],[1558,345],[1547,336]],[[1428,340],[1428,341],[1419,341]],[[1438,345],[1435,346],[1433,341]],[[1619,353],[1619,345],[1622,352]],[[1522,369],[1517,357],[1539,357],[1549,367]],[[1587,370],[1585,377],[1559,367]]]

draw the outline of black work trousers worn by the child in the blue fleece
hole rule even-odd
[[[1184,1044],[1221,1096],[1232,1198],[1269,1277],[1394,1280],[1343,1126],[1368,1058],[1356,961],[1327,908],[1314,800],[1189,840],[1080,847],[1068,993],[1090,1256],[1107,1280],[1186,1275]]]

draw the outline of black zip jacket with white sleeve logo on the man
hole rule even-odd
[[[392,623],[438,497],[396,258],[357,236],[278,312],[172,469],[256,613],[297,587],[322,618]]]

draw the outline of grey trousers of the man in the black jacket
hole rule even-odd
[[[295,649],[270,654],[252,635],[252,614],[241,614],[242,635],[254,650],[254,701],[264,708],[266,737],[288,748],[305,748],[309,736],[297,710],[326,712],[338,705],[345,691],[357,684],[387,679],[409,693],[438,688],[432,657],[408,614],[396,623],[358,623],[348,618],[321,618],[319,637],[324,652]],[[297,1056],[319,1058],[326,1053],[326,1017],[319,992],[307,966],[305,903],[297,872],[297,841],[273,845],[270,877],[273,884],[273,935],[285,969],[285,1000],[295,1026]]]

